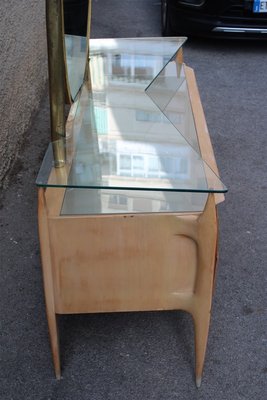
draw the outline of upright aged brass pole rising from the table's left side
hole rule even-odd
[[[65,85],[62,0],[46,0],[51,141],[55,167],[65,164]]]

